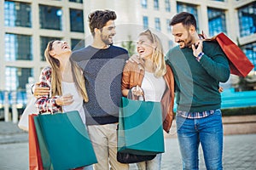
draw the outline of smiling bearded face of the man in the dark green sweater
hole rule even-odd
[[[191,26],[186,28],[182,23],[178,23],[172,26],[172,35],[175,38],[175,42],[178,43],[179,48],[191,47],[191,45],[195,42],[191,35]]]

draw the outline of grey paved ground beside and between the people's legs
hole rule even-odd
[[[28,144],[0,144],[0,169],[27,170]],[[200,169],[205,170],[200,150]],[[256,169],[256,134],[224,136],[224,170]],[[136,170],[131,165],[131,170]],[[162,170],[180,170],[182,163],[176,138],[166,139],[166,153],[162,156]]]

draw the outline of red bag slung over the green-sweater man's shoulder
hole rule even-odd
[[[247,56],[241,51],[241,48],[239,48],[236,43],[232,42],[223,32],[206,40],[218,42],[220,48],[222,48],[224,54],[226,54],[230,61],[231,74],[246,77],[247,74],[252,71],[254,65],[247,59]]]

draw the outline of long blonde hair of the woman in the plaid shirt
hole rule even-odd
[[[44,56],[49,65],[51,65],[51,94],[62,95],[62,87],[61,87],[61,72],[60,72],[60,61],[50,56],[49,52],[53,49],[53,42],[55,40],[48,42],[47,47],[44,51]],[[85,88],[85,80],[84,75],[79,65],[77,65],[73,60],[70,59],[71,70],[73,75],[73,81],[75,82],[75,86],[79,91],[79,94],[82,95],[84,102],[88,102],[88,95]]]

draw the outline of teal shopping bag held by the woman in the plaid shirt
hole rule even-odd
[[[38,115],[38,122],[55,170],[96,163],[96,155],[78,111]]]

